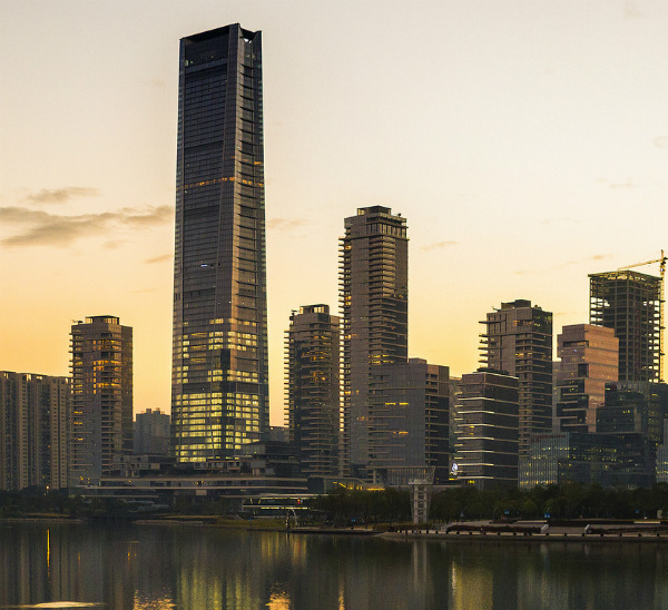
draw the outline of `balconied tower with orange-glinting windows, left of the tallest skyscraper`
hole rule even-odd
[[[71,327],[70,481],[97,484],[132,453],[132,328],[115,316]]]

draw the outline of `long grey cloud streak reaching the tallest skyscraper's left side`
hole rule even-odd
[[[58,246],[65,247],[81,237],[107,235],[115,229],[148,228],[170,222],[174,209],[170,206],[146,209],[122,208],[117,211],[65,216],[22,207],[0,207],[3,224],[27,225],[18,234],[0,242],[4,247]],[[115,239],[107,239],[107,247],[114,247]]]

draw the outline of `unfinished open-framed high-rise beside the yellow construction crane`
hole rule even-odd
[[[661,278],[621,269],[589,276],[589,323],[615,331],[619,381],[658,382],[661,374]]]

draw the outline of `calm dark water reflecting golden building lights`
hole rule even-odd
[[[0,522],[0,607],[63,600],[114,610],[664,610],[668,544]]]

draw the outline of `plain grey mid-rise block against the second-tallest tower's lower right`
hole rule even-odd
[[[421,358],[371,370],[367,468],[376,480],[448,482],[449,375],[448,366]]]

